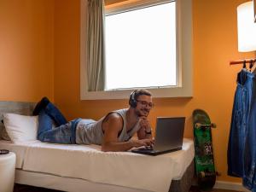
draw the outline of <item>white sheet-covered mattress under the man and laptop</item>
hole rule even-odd
[[[166,192],[194,158],[194,143],[183,140],[183,149],[148,156],[131,152],[102,152],[96,145],[65,145],[39,141],[14,144],[0,141],[0,148],[17,154],[16,168],[108,183],[135,189]]]

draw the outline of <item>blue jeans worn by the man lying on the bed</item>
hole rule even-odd
[[[38,140],[47,143],[76,143],[76,125],[79,119],[67,122],[51,102],[38,114]],[[52,129],[52,125],[56,127]]]

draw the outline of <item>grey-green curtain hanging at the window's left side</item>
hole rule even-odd
[[[88,90],[104,90],[105,43],[104,1],[88,0],[87,3],[87,77]]]

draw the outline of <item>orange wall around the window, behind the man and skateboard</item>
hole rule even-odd
[[[187,117],[185,137],[193,137],[191,113],[205,109],[218,128],[212,130],[218,180],[240,182],[228,177],[227,145],[230,117],[236,90],[236,73],[241,66],[230,67],[230,60],[254,53],[238,53],[236,7],[247,0],[193,0],[193,98],[154,99],[150,114]],[[80,101],[79,99],[79,0],[55,1],[55,103],[69,119],[99,119],[117,108],[128,107],[127,100]],[[127,96],[128,97],[128,96]]]

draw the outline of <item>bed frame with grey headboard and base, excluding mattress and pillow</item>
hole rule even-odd
[[[3,119],[3,113],[20,113],[25,115],[32,115],[32,110],[35,107],[33,102],[0,102],[0,120]],[[0,139],[4,133],[3,124],[0,123]],[[194,160],[190,163],[183,177],[179,180],[172,180],[169,192],[188,192],[191,187],[192,180],[195,174]],[[65,191],[81,191],[81,189],[88,189],[89,191],[106,191],[106,192],[146,192],[145,190],[125,188],[116,185],[93,183],[87,180],[59,177],[55,175],[27,172],[16,169],[15,183],[27,184],[32,186],[44,187],[49,189],[59,189]]]

